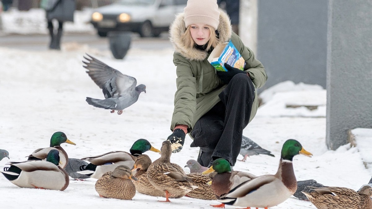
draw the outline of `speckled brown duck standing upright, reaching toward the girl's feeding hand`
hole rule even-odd
[[[170,202],[169,194],[182,197],[193,190],[192,181],[186,177],[182,167],[170,163],[171,153],[170,142],[164,141],[160,149],[161,157],[151,163],[147,170],[150,183],[156,189],[166,193],[165,202]]]

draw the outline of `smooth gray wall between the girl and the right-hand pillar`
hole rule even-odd
[[[326,87],[326,0],[259,0],[257,58],[268,80],[261,91],[282,81]]]

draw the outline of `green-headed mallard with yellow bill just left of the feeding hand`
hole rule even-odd
[[[89,161],[89,164],[81,166],[80,171],[77,173],[85,174],[94,179],[99,179],[104,173],[113,171],[119,165],[126,165],[127,167],[132,168],[134,160],[142,153],[149,150],[160,152],[160,150],[154,148],[146,139],[138,139],[129,149],[130,153],[125,151],[112,151],[102,155],[81,158],[81,160]]]

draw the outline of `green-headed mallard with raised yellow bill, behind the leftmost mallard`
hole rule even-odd
[[[68,162],[68,155],[67,152],[61,147],[62,143],[76,145],[67,138],[64,132],[57,131],[50,138],[50,146],[36,149],[31,155],[28,156],[28,160],[46,160],[49,151],[52,149],[57,149],[60,153],[60,166],[61,168],[65,168]]]

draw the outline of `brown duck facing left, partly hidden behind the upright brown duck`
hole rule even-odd
[[[151,159],[148,155],[142,154],[137,157],[134,162],[134,170],[137,170],[137,173],[134,177],[137,178],[137,181],[134,181],[136,190],[139,193],[154,196],[154,197],[165,197],[165,193],[155,187],[150,183],[147,178],[147,169],[151,164]],[[182,196],[170,195],[169,198],[180,198]]]

